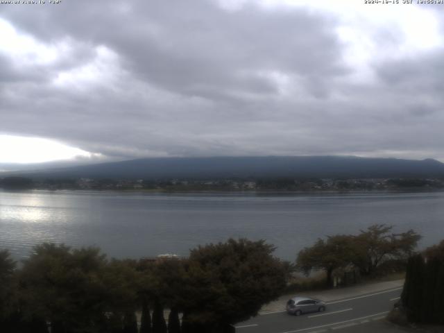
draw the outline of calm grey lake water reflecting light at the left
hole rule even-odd
[[[15,259],[43,241],[99,246],[110,257],[187,255],[229,237],[266,239],[294,260],[318,237],[374,223],[412,228],[424,248],[444,239],[444,193],[141,194],[0,191],[0,248]]]

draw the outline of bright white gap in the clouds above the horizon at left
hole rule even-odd
[[[50,139],[0,135],[0,163],[40,163],[92,155]]]

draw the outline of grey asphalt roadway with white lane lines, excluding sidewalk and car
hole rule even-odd
[[[351,296],[327,302],[322,313],[291,316],[286,311],[259,314],[237,324],[237,333],[322,333],[350,332],[349,327],[368,325],[385,318],[393,304],[399,300],[402,288]],[[301,295],[302,296],[302,295]],[[284,309],[285,304],[282,304]],[[362,328],[364,328],[363,326]]]

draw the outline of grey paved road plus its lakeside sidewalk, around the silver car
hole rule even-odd
[[[355,287],[301,293],[327,302],[323,313],[291,316],[284,311],[291,296],[264,307],[259,316],[236,325],[239,333],[323,333],[366,332],[366,328],[385,318],[402,291],[402,280]],[[370,325],[370,326],[369,326]],[[354,328],[353,328],[354,327]],[[372,331],[368,331],[372,332]]]

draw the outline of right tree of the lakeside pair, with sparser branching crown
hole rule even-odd
[[[359,256],[354,264],[362,275],[372,275],[382,262],[388,259],[398,259],[407,262],[407,258],[413,254],[420,235],[413,230],[400,234],[390,233],[391,225],[370,225],[367,230],[355,238]]]

